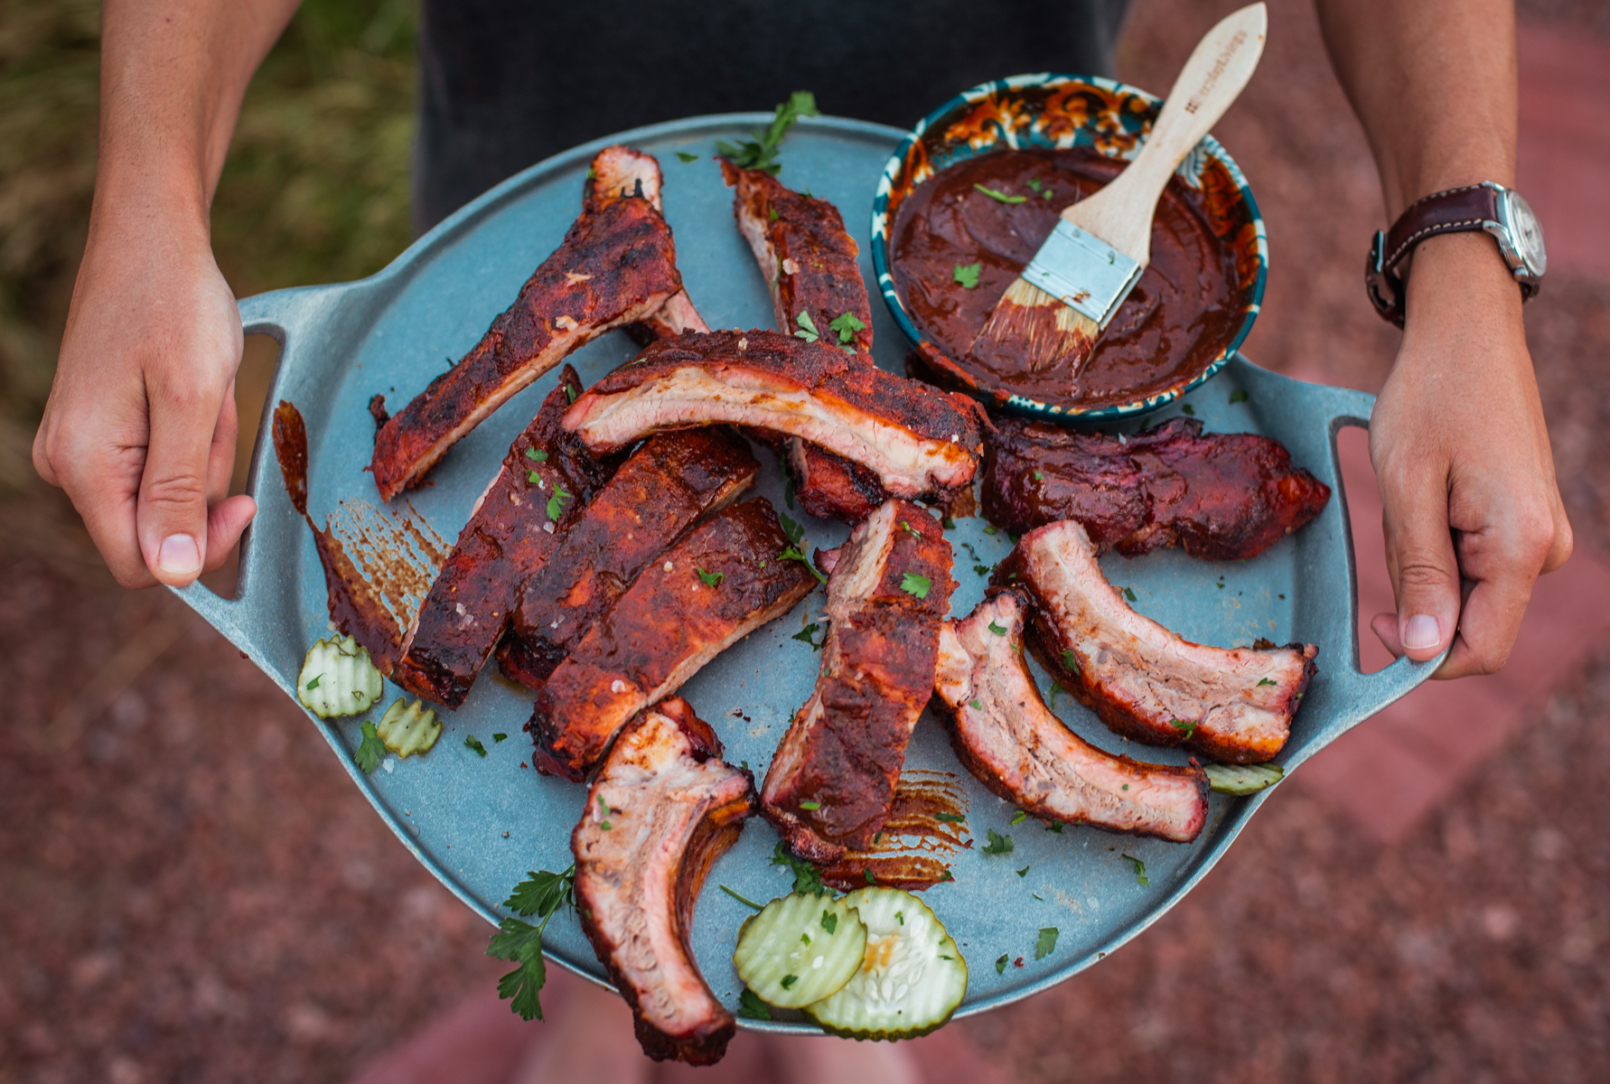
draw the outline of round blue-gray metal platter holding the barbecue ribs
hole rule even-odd
[[[441,370],[444,359],[462,356],[478,341],[531,269],[559,245],[580,209],[588,163],[609,143],[625,142],[660,159],[678,263],[705,319],[713,327],[770,327],[765,283],[733,222],[731,190],[710,161],[716,139],[745,135],[768,119],[758,113],[696,118],[578,147],[493,188],[370,279],[243,300],[246,332],[269,333],[282,345],[269,408],[290,399],[308,422],[314,519],[324,522],[327,514],[340,519],[353,509],[378,506],[364,472],[374,443],[369,396],[385,393],[396,409]],[[873,188],[902,135],[892,127],[821,118],[800,122],[782,147],[782,180],[840,208],[861,246],[868,282],[873,280],[868,259]],[[676,151],[699,158],[683,163]],[[874,306],[873,324],[877,362],[900,372],[906,343],[882,306]],[[609,335],[578,351],[572,362],[583,383],[591,383],[633,353],[623,335]],[[446,456],[430,485],[386,512],[423,520],[449,543],[457,538],[510,440],[554,380],[555,374],[549,374],[506,404]],[[1233,391],[1246,391],[1245,401],[1232,404]],[[1103,561],[1114,583],[1133,590],[1138,610],[1190,639],[1240,646],[1267,636],[1277,643],[1319,644],[1319,676],[1296,717],[1290,744],[1277,759],[1288,772],[1406,694],[1433,668],[1399,660],[1378,673],[1359,672],[1352,543],[1335,436],[1343,425],[1365,425],[1370,404],[1368,395],[1288,380],[1236,356],[1219,377],[1170,404],[1164,416],[1188,406],[1211,432],[1274,436],[1291,449],[1298,464],[1333,488],[1335,499],[1314,523],[1254,561],[1211,564],[1175,551]],[[1111,428],[1133,430],[1138,424]],[[295,699],[303,654],[327,635],[330,623],[319,559],[308,527],[285,494],[267,433],[266,412],[248,483],[259,511],[242,544],[237,598],[219,598],[200,585],[179,596]],[[771,467],[770,453],[762,457],[768,469],[758,491],[782,509],[782,478]],[[795,515],[816,546],[834,546],[847,535],[839,523]],[[974,573],[961,543],[971,544],[985,565],[1009,549],[1005,533],[989,535],[984,527],[984,520],[968,519],[947,533],[958,556],[955,578],[961,586],[952,599],[958,617],[984,594],[984,577]],[[792,614],[713,660],[681,691],[716,728],[728,760],[747,762],[757,778],[816,678],[819,656],[792,636],[821,607],[823,594],[811,594]],[[362,717],[320,722],[309,715],[309,720],[402,844],[481,918],[496,923],[506,913],[501,904],[509,889],[528,870],[570,865],[570,830],[580,818],[584,789],[522,768],[522,760],[530,763],[530,743],[522,733],[530,701],[493,680],[491,670],[462,709],[444,715],[446,730],[428,755],[390,762],[374,775],[365,776],[353,765]],[[1037,667],[1035,673],[1046,688],[1046,675]],[[374,715],[398,694],[388,685]],[[1058,699],[1056,710],[1103,749],[1141,760],[1183,760],[1174,751],[1122,743],[1066,696]],[[507,739],[494,741],[494,733]],[[485,744],[485,757],[464,744],[469,734]],[[924,894],[963,945],[969,965],[960,1015],[1048,989],[1141,933],[1212,868],[1270,794],[1214,794],[1208,828],[1185,846],[1093,828],[1071,826],[1055,834],[1032,820],[1009,825],[1013,807],[966,775],[932,712],[918,725],[906,767],[958,776],[968,802],[968,828],[977,844],[955,855],[953,883]],[[1014,850],[982,854],[989,828],[1011,834]],[[758,900],[787,891],[786,871],[770,863],[774,844],[771,828],[752,820],[737,846],[716,862],[699,899],[694,952],[710,987],[731,1007],[742,989],[731,963],[733,944],[749,910],[716,886],[731,886]],[[1145,863],[1148,884],[1138,883],[1124,855]],[[1019,876],[1024,867],[1027,871]],[[1056,949],[1035,960],[1038,931],[1050,926],[1059,931]],[[605,981],[573,918],[549,925],[546,947],[564,966]],[[1022,957],[1022,966],[997,973],[993,962],[1001,954]],[[811,1024],[782,1020],[741,1024],[774,1032],[815,1031]]]

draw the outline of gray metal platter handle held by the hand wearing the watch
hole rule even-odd
[[[1341,451],[1336,445],[1336,438],[1341,430],[1349,425],[1364,430],[1370,428],[1370,411],[1375,408],[1375,396],[1367,391],[1354,391],[1352,388],[1333,388],[1322,385],[1309,385],[1307,390],[1320,398],[1319,406],[1323,409],[1327,427],[1325,443],[1330,451],[1331,477],[1336,480],[1336,499],[1341,501],[1341,517],[1344,525],[1343,540],[1349,586],[1351,620],[1348,623],[1348,633],[1351,664],[1336,667],[1327,675],[1330,696],[1336,699],[1340,710],[1333,710],[1330,714],[1330,722],[1325,723],[1323,730],[1320,730],[1312,741],[1302,743],[1299,749],[1291,751],[1290,759],[1285,762],[1288,770],[1307,760],[1311,755],[1333,743],[1336,738],[1341,738],[1344,733],[1375,715],[1388,704],[1407,696],[1420,683],[1426,681],[1436,667],[1443,664],[1443,659],[1447,657],[1447,651],[1439,654],[1436,659],[1428,659],[1425,662],[1414,662],[1404,656],[1375,673],[1364,673],[1360,668],[1359,636],[1362,636],[1367,630],[1359,625],[1357,559],[1352,549],[1348,493],[1346,483],[1341,477]],[[1449,649],[1452,649],[1452,644],[1449,644]]]

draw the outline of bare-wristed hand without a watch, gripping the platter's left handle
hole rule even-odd
[[[179,586],[219,567],[256,512],[225,499],[240,312],[204,225],[142,211],[92,229],[34,467],[119,583]]]

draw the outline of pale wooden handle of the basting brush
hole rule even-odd
[[[1269,11],[1254,3],[1225,16],[1196,43],[1140,153],[1113,184],[1063,217],[1146,266],[1151,216],[1175,166],[1225,114],[1264,55]]]

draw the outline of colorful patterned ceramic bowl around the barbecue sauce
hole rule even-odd
[[[873,269],[889,312],[916,348],[932,379],[989,406],[1059,422],[1125,417],[1154,411],[1212,377],[1246,338],[1257,319],[1269,274],[1269,238],[1257,201],[1235,159],[1209,135],[1175,171],[1201,192],[1214,234],[1235,253],[1241,321],[1206,366],[1182,372],[1170,387],[1129,403],[1080,406],[1046,403],[1013,393],[952,361],[927,340],[906,312],[889,266],[889,230],[900,205],[934,174],[958,161],[1027,147],[1092,147],[1109,158],[1130,159],[1151,130],[1161,100],[1095,76],[1013,76],[964,90],[923,118],[884,166],[873,197]]]

